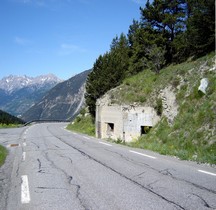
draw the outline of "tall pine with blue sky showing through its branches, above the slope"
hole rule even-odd
[[[173,41],[185,29],[184,0],[154,0],[152,4],[148,0],[146,7],[140,10],[143,27],[151,27],[165,39],[165,58],[171,63],[176,53]]]

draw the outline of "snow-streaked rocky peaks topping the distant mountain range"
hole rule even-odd
[[[40,88],[44,85],[56,85],[57,83],[61,82],[58,77],[53,74],[41,75],[38,77],[28,77],[24,76],[14,76],[10,75],[8,77],[4,77],[0,80],[0,89],[6,91],[8,94],[13,93],[19,89],[25,87],[34,87]]]

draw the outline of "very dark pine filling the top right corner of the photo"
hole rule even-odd
[[[192,55],[215,49],[215,1],[187,0],[187,40]]]

